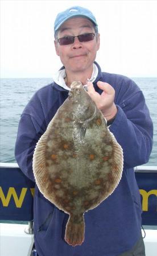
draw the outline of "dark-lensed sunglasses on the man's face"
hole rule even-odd
[[[57,42],[60,43],[60,46],[67,46],[67,44],[73,44],[75,38],[78,38],[79,42],[89,42],[94,39],[95,35],[96,34],[94,33],[86,33],[79,36],[64,36],[64,38],[59,38]]]

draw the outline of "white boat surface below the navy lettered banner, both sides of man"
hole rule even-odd
[[[27,225],[0,224],[0,255],[1,256],[30,256],[34,235],[26,234],[24,229]],[[146,229],[144,245],[146,256],[156,256],[157,230]]]

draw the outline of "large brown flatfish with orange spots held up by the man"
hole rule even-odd
[[[84,242],[84,213],[113,193],[121,180],[123,152],[81,82],[36,144],[33,171],[40,192],[69,214],[65,241]]]

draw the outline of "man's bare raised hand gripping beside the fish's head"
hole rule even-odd
[[[103,90],[103,92],[101,94],[97,93],[94,89],[93,83],[88,81],[88,94],[108,121],[117,114],[117,107],[114,104],[115,91],[107,82],[98,81],[97,85],[101,90]]]

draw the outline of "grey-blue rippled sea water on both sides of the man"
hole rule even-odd
[[[157,78],[133,78],[142,89],[154,123],[154,146],[147,163],[157,166]],[[0,162],[16,163],[14,147],[20,114],[36,90],[52,79],[1,79]]]

